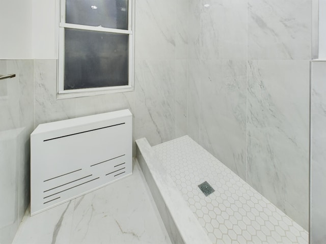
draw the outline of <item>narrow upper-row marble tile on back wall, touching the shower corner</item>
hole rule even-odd
[[[176,32],[175,57],[188,58],[188,0],[177,0],[176,4]]]

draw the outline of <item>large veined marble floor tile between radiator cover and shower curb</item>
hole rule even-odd
[[[70,243],[168,243],[138,163],[133,174],[74,202]]]

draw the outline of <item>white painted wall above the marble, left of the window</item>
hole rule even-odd
[[[57,58],[58,0],[0,0],[0,59]]]

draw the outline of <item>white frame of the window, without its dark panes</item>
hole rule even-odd
[[[114,29],[98,26],[69,24],[66,23],[66,0],[60,0],[59,20],[59,58],[58,58],[58,82],[57,99],[88,97],[109,93],[131,92],[134,90],[134,0],[128,0],[128,29]],[[65,28],[84,29],[88,31],[118,33],[129,35],[129,64],[128,64],[128,85],[106,86],[82,89],[64,89],[64,67],[65,67]]]

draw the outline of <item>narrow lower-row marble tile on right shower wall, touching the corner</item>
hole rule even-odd
[[[187,134],[199,141],[200,132],[200,60],[188,60]]]

